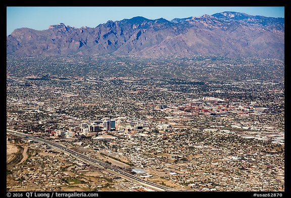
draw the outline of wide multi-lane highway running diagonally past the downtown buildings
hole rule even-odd
[[[31,136],[31,135],[27,135],[27,134],[23,134],[23,133],[20,133],[20,132],[17,132],[17,131],[14,131],[14,130],[9,130],[7,129],[7,134],[11,134],[13,136],[19,136],[19,137],[24,137],[24,138],[28,138],[28,139],[31,139],[33,141],[36,141],[36,142],[39,142],[39,143],[44,143],[52,148],[55,148],[55,149],[58,149],[64,153],[67,153],[67,154],[70,154],[71,156],[77,158],[78,160],[81,160],[83,162],[86,162],[86,163],[89,163],[93,166],[96,166],[96,167],[103,167],[107,170],[110,171],[110,173],[113,173],[117,176],[120,176],[126,180],[129,180],[129,181],[133,181],[133,182],[137,182],[141,185],[144,185],[144,186],[147,186],[147,187],[150,187],[152,189],[155,189],[157,191],[179,191],[177,189],[173,189],[173,188],[169,188],[169,187],[166,187],[166,186],[163,186],[163,185],[160,185],[160,184],[157,184],[157,183],[154,183],[154,182],[151,182],[151,181],[147,181],[147,180],[143,180],[141,179],[140,177],[137,177],[135,175],[132,175],[122,169],[119,169],[117,167],[114,167],[114,166],[111,166],[110,164],[107,164],[106,162],[103,162],[101,160],[98,160],[98,159],[94,159],[94,158],[91,158],[91,157],[88,157],[86,155],[83,155],[81,153],[78,153],[76,151],[73,151],[69,148],[66,148],[58,143],[55,143],[55,142],[52,142],[52,141],[49,141],[49,140],[45,140],[43,138],[40,138],[40,137],[35,137],[35,136]]]

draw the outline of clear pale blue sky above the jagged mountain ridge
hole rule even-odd
[[[136,16],[172,20],[223,11],[284,17],[284,7],[7,7],[7,35],[23,27],[45,30],[49,25],[59,23],[76,28],[96,27],[109,20],[120,21]]]

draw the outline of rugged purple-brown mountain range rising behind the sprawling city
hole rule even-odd
[[[171,21],[133,17],[95,28],[19,28],[7,36],[8,54],[284,57],[284,18],[222,12]]]

